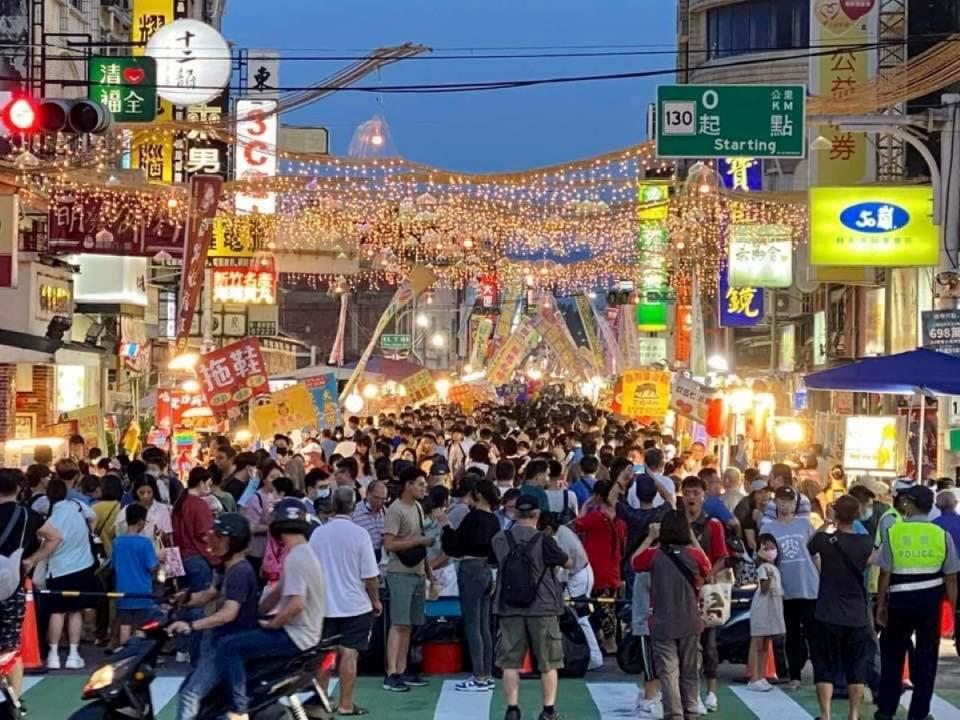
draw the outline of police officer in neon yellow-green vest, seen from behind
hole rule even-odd
[[[933,491],[914,486],[898,494],[903,519],[892,524],[880,547],[877,625],[880,635],[880,695],[875,720],[892,720],[900,705],[901,671],[910,638],[913,698],[908,720],[926,720],[940,652],[940,600],[957,604],[960,558],[950,535],[927,520]]]

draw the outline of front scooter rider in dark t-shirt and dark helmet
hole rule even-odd
[[[214,662],[221,639],[257,627],[257,576],[245,554],[250,537],[250,523],[240,513],[223,513],[214,520],[207,546],[222,559],[222,570],[208,589],[186,593],[185,606],[202,608],[216,600],[219,609],[199,620],[178,621],[168,628],[176,634],[203,633],[200,661],[180,687],[177,720],[194,720],[203,698],[223,679],[220,666]]]

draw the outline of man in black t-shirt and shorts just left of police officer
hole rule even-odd
[[[873,554],[873,538],[857,534],[853,523],[860,503],[844,495],[834,503],[836,532],[818,532],[808,544],[810,555],[820,556],[821,582],[814,618],[818,626],[811,643],[813,675],[821,714],[830,717],[833,679],[842,668],[848,683],[850,716],[857,717],[867,682],[867,658],[873,629],[867,611],[864,572]]]

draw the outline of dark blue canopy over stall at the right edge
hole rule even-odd
[[[812,390],[960,395],[960,358],[917,348],[810,373],[804,383]]]

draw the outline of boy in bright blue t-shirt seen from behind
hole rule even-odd
[[[120,625],[120,644],[126,645],[131,629],[147,621],[153,608],[153,576],[159,563],[153,543],[145,538],[147,509],[138,503],[124,509],[127,522],[125,535],[113,541],[113,567],[117,574],[117,592],[142,597],[117,600],[117,621]]]

